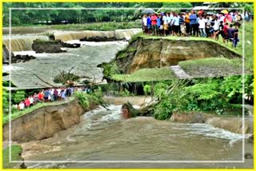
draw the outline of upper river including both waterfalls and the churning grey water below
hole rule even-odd
[[[72,66],[75,66],[74,70],[72,70],[73,74],[89,79],[91,82],[102,82],[102,69],[97,67],[98,64],[110,62],[118,50],[125,48],[128,42],[79,42],[79,39],[102,36],[106,38],[126,38],[128,40],[132,35],[140,31],[139,29],[114,31],[51,30],[50,33],[54,34],[56,39],[63,42],[81,44],[81,47],[78,49],[62,48],[66,50],[66,53],[58,54],[36,54],[32,51],[32,44],[35,39],[49,40],[46,34],[14,34],[11,35],[11,42],[9,36],[4,35],[3,44],[6,45],[8,50],[13,51],[14,55],[30,54],[36,57],[36,59],[29,62],[13,63],[11,66],[3,65],[3,72],[11,74],[11,78],[6,76],[3,79],[4,81],[11,80],[18,89],[42,88],[49,85],[39,80],[34,74],[54,85],[54,77],[60,71],[65,70],[67,72]]]

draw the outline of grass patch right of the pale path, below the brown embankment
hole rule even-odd
[[[242,74],[242,59],[204,58],[179,62],[178,66],[193,78]]]

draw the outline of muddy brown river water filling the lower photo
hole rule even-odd
[[[250,168],[253,165],[252,159],[241,163],[241,134],[206,124],[180,124],[153,117],[124,120],[120,110],[121,105],[110,105],[110,110],[94,109],[82,115],[78,125],[54,137],[23,143],[25,164],[28,168]],[[251,151],[252,145],[246,143],[246,152]]]

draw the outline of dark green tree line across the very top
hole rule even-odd
[[[136,8],[138,10],[12,10],[12,26],[34,24],[63,24],[85,22],[125,22],[141,17],[143,8],[192,8],[199,2],[4,2],[3,26],[9,25],[9,8]],[[222,2],[217,7],[245,7],[253,10],[252,3]]]

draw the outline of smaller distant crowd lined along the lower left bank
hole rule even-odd
[[[64,101],[66,97],[73,96],[76,91],[84,91],[90,93],[89,87],[58,87],[51,89],[42,89],[34,95],[26,97],[25,100],[20,101],[18,104],[14,105],[15,109],[23,110],[30,108],[32,105],[38,104],[38,102],[50,102],[50,101]]]

